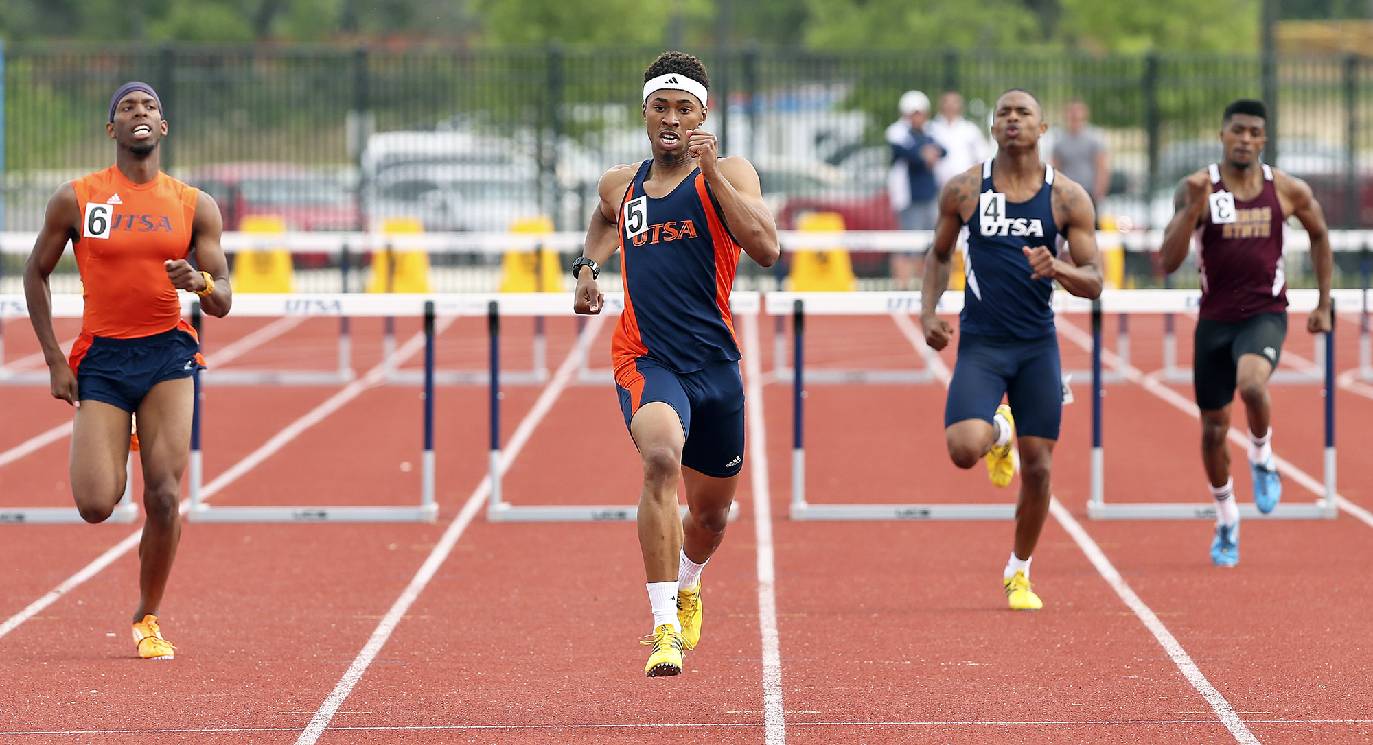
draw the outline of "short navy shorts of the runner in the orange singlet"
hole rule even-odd
[[[133,339],[96,336],[77,365],[77,398],[137,412],[158,383],[203,369],[198,351],[195,339],[178,328]]]

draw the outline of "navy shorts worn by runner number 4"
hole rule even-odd
[[[945,428],[956,421],[991,421],[1006,397],[1016,435],[1059,439],[1063,421],[1063,366],[1057,335],[1000,339],[964,333],[945,402]]]

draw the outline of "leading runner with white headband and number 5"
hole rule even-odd
[[[744,462],[744,390],[729,292],[740,251],[777,261],[758,173],[721,158],[706,123],[706,67],[682,52],[644,73],[654,156],[615,166],[573,262],[574,310],[600,313],[600,265],[621,251],[625,311],[611,344],[615,383],[644,484],[638,546],[654,613],[649,676],[682,671],[700,638],[700,571],[725,535]],[[686,487],[686,516],[677,483]]]

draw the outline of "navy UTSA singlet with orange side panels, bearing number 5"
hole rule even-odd
[[[739,243],[699,169],[667,196],[644,193],[652,163],[638,166],[619,211],[625,311],[611,342],[616,377],[641,355],[678,373],[739,361],[729,311]]]

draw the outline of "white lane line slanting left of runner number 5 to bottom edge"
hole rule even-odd
[[[505,449],[501,451],[501,461],[500,461],[501,473],[504,473],[509,468],[509,465],[515,461],[515,456],[519,456],[520,450],[524,449],[524,443],[529,442],[529,438],[530,435],[533,435],[534,428],[538,427],[538,424],[544,420],[544,416],[548,414],[549,409],[553,407],[553,402],[556,402],[557,397],[562,395],[564,388],[567,388],[568,381],[571,381],[573,376],[578,370],[578,366],[581,365],[582,358],[586,355],[586,347],[590,346],[592,340],[596,339],[596,335],[600,332],[600,328],[605,324],[605,318],[607,318],[605,316],[593,316],[590,318],[590,321],[586,324],[586,329],[582,332],[582,338],[567,354],[567,359],[563,359],[563,364],[557,368],[557,372],[553,373],[553,379],[549,380],[548,386],[544,388],[544,392],[538,397],[538,401],[534,402],[534,407],[530,409],[527,414],[524,414],[524,418],[519,423],[519,427],[515,428],[515,434],[511,435],[509,443],[507,443]],[[301,737],[297,738],[295,741],[297,745],[312,745],[320,738],[321,734],[324,734],[325,727],[330,726],[330,720],[334,719],[334,715],[338,713],[339,707],[342,707],[343,701],[347,700],[350,693],[353,693],[353,687],[357,686],[357,682],[362,679],[362,674],[367,672],[367,668],[368,665],[372,664],[372,660],[375,660],[378,653],[382,652],[382,648],[386,645],[386,641],[391,637],[391,632],[395,631],[395,627],[401,623],[401,617],[405,616],[406,611],[409,611],[411,604],[413,604],[420,597],[420,593],[424,591],[424,587],[428,584],[428,582],[434,579],[434,575],[438,572],[438,568],[448,558],[448,554],[452,553],[453,546],[457,545],[457,539],[463,536],[463,531],[465,531],[467,525],[471,524],[472,517],[475,517],[478,510],[482,509],[482,505],[486,504],[486,499],[490,497],[490,493],[492,493],[492,477],[490,475],[486,475],[482,477],[482,482],[476,486],[476,490],[472,491],[472,495],[467,498],[467,504],[463,505],[463,510],[453,520],[453,524],[450,524],[448,530],[443,531],[443,536],[439,538],[438,543],[434,546],[434,550],[430,552],[428,558],[424,560],[424,564],[420,565],[420,569],[415,573],[415,578],[411,579],[411,583],[401,593],[401,597],[395,598],[395,602],[391,604],[391,609],[387,611],[386,616],[382,617],[382,622],[376,624],[376,630],[372,631],[372,635],[367,639],[367,643],[362,645],[362,650],[358,652],[357,657],[353,659],[353,664],[349,665],[347,671],[343,674],[343,678],[338,682],[336,686],[334,686],[334,690],[330,693],[328,698],[325,698],[324,702],[320,705],[320,709],[314,712],[314,718],[310,719],[310,723],[305,727],[305,731],[302,731]]]

